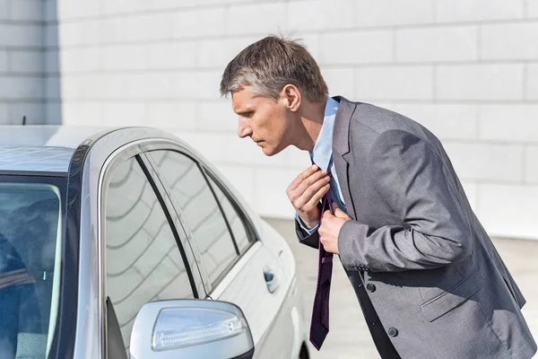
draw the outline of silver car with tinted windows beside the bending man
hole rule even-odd
[[[295,266],[176,136],[0,130],[2,358],[305,359]]]

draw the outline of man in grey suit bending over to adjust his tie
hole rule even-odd
[[[288,145],[310,153],[315,165],[287,188],[299,241],[319,245],[320,267],[325,251],[340,255],[382,358],[534,355],[525,299],[428,129],[328,97],[306,48],[274,36],[230,62],[228,93],[240,137],[269,156]],[[327,194],[334,215],[322,213]],[[312,337],[321,346],[325,336]]]

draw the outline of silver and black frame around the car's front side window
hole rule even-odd
[[[135,141],[134,143],[126,144],[120,147],[112,153],[107,160],[107,163],[103,165],[100,173],[100,185],[98,188],[98,253],[99,253],[99,281],[100,281],[100,308],[101,312],[101,337],[102,337],[102,357],[107,357],[108,353],[108,311],[107,311],[107,268],[106,268],[106,208],[107,208],[107,194],[110,180],[116,173],[115,170],[126,161],[131,158],[135,158],[135,161],[141,167],[146,179],[152,186],[153,193],[158,198],[163,213],[167,217],[169,226],[172,230],[174,238],[178,244],[178,250],[181,254],[181,258],[184,261],[187,276],[189,278],[189,284],[195,298],[200,297],[200,286],[195,285],[201,282],[199,270],[194,260],[194,253],[190,246],[186,245],[187,233],[184,231],[181,225],[178,225],[178,221],[175,220],[175,214],[170,209],[168,195],[161,186],[161,181],[152,169],[152,166],[147,162],[146,157],[143,155],[141,144],[150,142],[152,140]],[[186,260],[187,259],[187,260]],[[121,337],[121,335],[120,335]],[[124,343],[125,345],[125,343]]]

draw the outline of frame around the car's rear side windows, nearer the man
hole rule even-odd
[[[178,214],[178,217],[179,217],[180,221],[183,223],[185,231],[187,232],[188,241],[191,243],[193,251],[195,251],[195,256],[197,257],[197,260],[199,260],[198,267],[200,268],[201,275],[204,277],[205,293],[209,297],[210,293],[212,293],[215,288],[217,288],[219,285],[221,285],[224,278],[226,276],[228,276],[228,274],[230,273],[230,269],[232,267],[234,267],[239,262],[239,260],[247,253],[247,251],[250,250],[256,244],[256,241],[259,241],[259,234],[256,231],[256,226],[254,225],[254,222],[252,221],[250,216],[247,215],[247,211],[244,210],[243,206],[240,205],[240,201],[232,193],[230,193],[230,190],[228,190],[228,188],[222,183],[222,181],[220,180],[217,173],[215,173],[215,171],[213,171],[206,163],[204,163],[204,160],[201,159],[201,156],[199,156],[198,154],[194,153],[193,151],[187,149],[186,147],[180,146],[177,143],[170,142],[170,141],[167,141],[167,140],[155,142],[155,143],[152,143],[152,144],[144,144],[143,145],[143,150],[144,150],[144,153],[146,153],[146,158],[148,159],[148,161],[152,163],[153,169],[157,173],[157,176],[160,178],[161,184],[165,188],[166,193],[169,195],[170,200],[172,201],[172,206],[174,206],[175,211]],[[198,248],[198,246],[196,244],[196,241],[195,241],[195,239],[193,237],[193,233],[191,232],[190,228],[188,227],[187,219],[186,219],[185,215],[183,215],[181,207],[178,205],[178,203],[177,203],[177,201],[176,201],[176,199],[175,199],[175,197],[174,197],[174,195],[172,193],[171,188],[169,188],[168,182],[164,179],[164,175],[161,173],[161,168],[153,160],[153,157],[151,155],[147,155],[147,153],[151,153],[151,152],[154,152],[154,151],[176,152],[176,153],[182,154],[184,156],[187,156],[190,160],[195,162],[195,164],[197,165],[199,171],[202,172],[202,175],[204,176],[204,180],[205,180],[207,186],[209,186],[210,190],[212,191],[213,197],[215,198],[215,201],[217,202],[217,204],[219,206],[219,209],[221,211],[221,215],[224,218],[224,221],[225,221],[225,223],[227,225],[228,231],[230,232],[230,237],[231,237],[231,239],[233,241],[234,247],[236,249],[236,253],[238,253],[238,255],[237,255],[236,258],[234,258],[234,260],[231,261],[230,265],[228,267],[226,267],[222,271],[221,275],[218,276],[217,279],[213,283],[210,280],[209,275],[207,274],[207,270],[206,270],[204,262],[202,261],[202,258],[201,258],[201,251],[199,250],[199,248]],[[217,185],[221,188],[222,192],[228,197],[228,199],[230,200],[230,204],[232,205],[232,207],[238,213],[239,218],[241,219],[241,221],[243,222],[243,224],[244,224],[244,226],[245,226],[245,228],[247,230],[248,241],[250,243],[247,246],[247,248],[245,250],[243,250],[243,251],[238,251],[239,247],[238,247],[237,242],[235,241],[235,238],[233,237],[233,232],[230,229],[230,223],[228,221],[228,217],[224,214],[224,211],[222,210],[222,207],[221,207],[221,203],[220,203],[219,199],[215,195],[213,186],[211,185],[209,180],[207,180],[207,176],[210,176],[211,179],[215,183],[217,183]]]

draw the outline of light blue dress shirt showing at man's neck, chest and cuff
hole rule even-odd
[[[314,150],[310,152],[310,159],[317,164],[317,167],[325,172],[330,168],[331,181],[329,184],[331,185],[331,197],[333,197],[333,202],[336,202],[340,209],[347,214],[347,208],[343,201],[342,189],[340,189],[340,182],[338,181],[333,161],[334,118],[336,118],[336,111],[338,110],[339,104],[338,101],[335,101],[331,97],[327,97],[323,125],[319,132],[319,136],[317,137],[316,144],[314,144]],[[295,214],[295,218],[299,221],[300,226],[309,234],[316,232],[319,223],[316,227],[308,229],[306,224],[299,218],[299,215]]]

